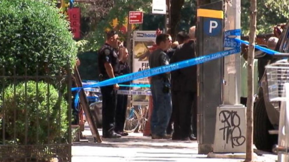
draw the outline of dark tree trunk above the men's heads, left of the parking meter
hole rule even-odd
[[[170,34],[172,36],[172,40],[175,40],[177,35],[177,26],[181,19],[181,8],[184,5],[185,0],[171,0],[170,6]]]

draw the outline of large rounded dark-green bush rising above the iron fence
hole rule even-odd
[[[75,63],[77,47],[67,19],[50,0],[0,0],[0,65],[8,73],[56,74]],[[7,73],[6,73],[7,74]]]

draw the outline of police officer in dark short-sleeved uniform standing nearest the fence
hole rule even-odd
[[[119,45],[119,36],[115,31],[107,33],[105,45],[98,52],[100,80],[107,80],[119,75],[119,58],[114,50]],[[114,118],[117,106],[118,84],[101,87],[103,138],[120,138],[114,132]]]

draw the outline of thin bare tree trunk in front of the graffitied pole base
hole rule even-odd
[[[247,98],[247,135],[246,135],[246,162],[253,161],[253,79],[254,79],[254,45],[256,39],[257,0],[251,0],[250,34],[248,52],[248,98]]]

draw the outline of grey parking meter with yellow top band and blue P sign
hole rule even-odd
[[[200,5],[197,12],[197,55],[223,51],[223,1]],[[215,28],[209,30],[212,23],[215,23]],[[213,151],[215,126],[212,123],[216,122],[216,107],[222,104],[223,59],[198,64],[197,67],[198,151],[207,154]]]

